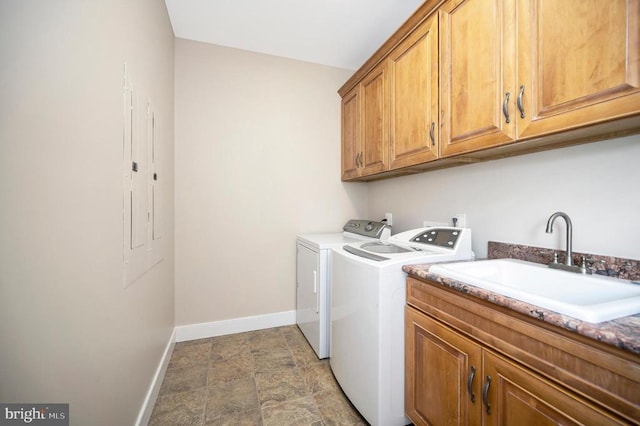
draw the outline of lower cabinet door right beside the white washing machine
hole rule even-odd
[[[480,346],[410,307],[405,322],[407,416],[415,425],[480,424]]]

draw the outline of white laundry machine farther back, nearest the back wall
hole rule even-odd
[[[349,220],[343,232],[303,234],[296,242],[296,323],[318,358],[330,350],[331,275],[329,250],[355,242],[385,241],[391,229],[384,222]]]

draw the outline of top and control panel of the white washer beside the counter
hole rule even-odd
[[[388,241],[349,243],[342,250],[379,264],[475,257],[471,250],[471,229],[449,226],[412,229],[393,235]]]

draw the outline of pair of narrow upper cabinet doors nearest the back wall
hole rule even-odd
[[[342,98],[342,179],[389,169],[389,107],[385,64]]]

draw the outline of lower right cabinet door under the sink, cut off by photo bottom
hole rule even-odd
[[[510,361],[489,352],[483,354],[484,425],[610,425],[620,420],[577,395],[559,388]],[[490,378],[490,379],[488,379]]]

